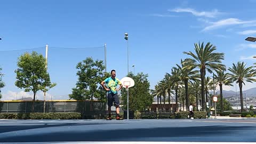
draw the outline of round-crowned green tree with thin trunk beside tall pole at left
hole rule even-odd
[[[51,83],[50,75],[47,73],[46,59],[42,54],[36,52],[22,54],[18,59],[17,66],[15,85],[20,89],[25,89],[25,92],[33,92],[32,111],[34,111],[37,91],[51,89],[56,84]]]

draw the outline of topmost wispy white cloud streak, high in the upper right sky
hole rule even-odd
[[[188,12],[188,13],[192,13],[193,15],[196,15],[197,17],[207,17],[207,18],[215,18],[217,17],[217,15],[220,14],[220,12],[217,9],[212,10],[211,12],[206,12],[206,11],[202,11],[202,12],[198,12],[194,9],[170,9],[168,10],[169,12]]]

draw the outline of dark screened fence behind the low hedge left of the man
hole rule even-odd
[[[32,101],[1,101],[0,113],[31,113]],[[81,113],[83,119],[102,119],[106,103],[99,101],[36,101],[34,113]]]

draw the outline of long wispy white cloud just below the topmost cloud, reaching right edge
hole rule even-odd
[[[207,26],[203,29],[203,31],[217,29],[224,26],[231,26],[231,25],[243,25],[245,23],[253,23],[256,22],[255,20],[252,21],[242,21],[236,18],[229,18],[229,19],[223,19],[219,20],[217,22],[211,22],[210,26]]]

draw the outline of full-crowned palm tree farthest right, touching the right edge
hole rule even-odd
[[[243,105],[243,84],[244,82],[256,82],[256,79],[253,78],[256,76],[256,70],[253,69],[252,66],[246,68],[246,63],[244,62],[237,62],[237,64],[233,63],[233,66],[231,68],[228,68],[228,70],[231,72],[231,74],[228,74],[230,77],[231,82],[238,83],[239,90],[240,90],[240,102],[241,102],[241,111],[244,110]]]

